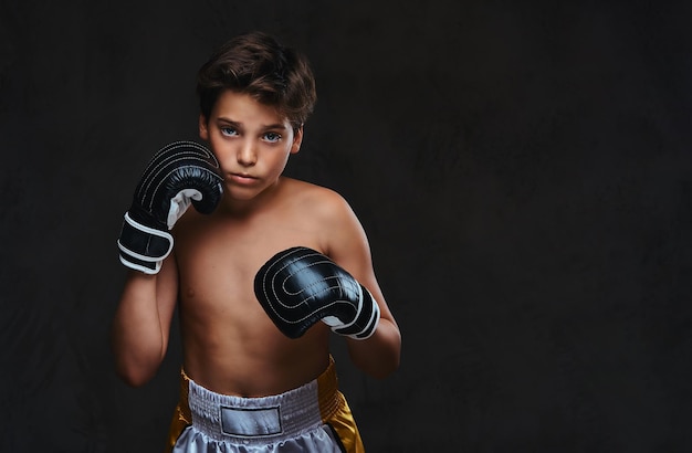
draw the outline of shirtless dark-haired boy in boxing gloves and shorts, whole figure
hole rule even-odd
[[[167,451],[361,452],[331,331],[376,378],[397,369],[401,338],[349,206],[282,176],[316,99],[308,63],[248,33],[200,69],[197,92],[213,155],[164,148],[125,217],[116,369],[132,386],[156,373],[178,303],[181,396]]]

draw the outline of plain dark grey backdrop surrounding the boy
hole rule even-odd
[[[319,101],[287,172],[368,232],[402,335],[335,340],[370,452],[692,450],[692,20],[653,1],[0,0],[0,451],[154,452],[179,338],[113,372],[115,240],[197,138],[195,74],[260,29]]]

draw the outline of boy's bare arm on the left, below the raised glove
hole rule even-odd
[[[166,355],[178,274],[172,254],[158,274],[128,272],[113,320],[112,339],[117,373],[136,387],[156,375]]]

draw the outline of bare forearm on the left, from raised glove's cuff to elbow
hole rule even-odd
[[[113,322],[116,371],[132,386],[150,380],[166,354],[156,287],[156,275],[130,272]]]

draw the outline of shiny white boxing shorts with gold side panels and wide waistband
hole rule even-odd
[[[364,451],[350,409],[337,389],[333,360],[317,379],[262,398],[216,393],[181,372],[167,452]]]

